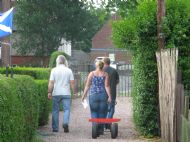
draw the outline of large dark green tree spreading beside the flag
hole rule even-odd
[[[21,54],[50,55],[61,39],[88,51],[90,40],[101,22],[80,0],[22,0],[16,4],[15,47]],[[98,26],[97,26],[97,25]],[[79,47],[77,44],[88,45]]]

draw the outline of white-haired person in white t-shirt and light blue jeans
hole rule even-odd
[[[74,92],[74,76],[72,70],[67,67],[67,61],[63,55],[57,57],[56,64],[56,67],[51,70],[48,85],[48,99],[53,100],[52,129],[53,132],[59,131],[59,105],[62,103],[64,109],[62,126],[64,132],[68,133],[71,108],[70,86]]]

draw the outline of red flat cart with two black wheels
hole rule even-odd
[[[118,123],[121,119],[118,118],[92,118],[89,122],[94,122],[92,125],[92,138],[95,139],[98,136],[98,124],[110,124],[111,138],[115,139],[118,136]]]

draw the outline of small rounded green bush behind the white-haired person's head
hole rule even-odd
[[[49,67],[53,68],[56,66],[56,58],[59,55],[64,55],[65,58],[68,58],[68,55],[65,54],[64,52],[59,52],[59,51],[55,51],[51,54],[50,60],[49,60]]]

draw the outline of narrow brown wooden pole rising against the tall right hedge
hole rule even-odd
[[[163,18],[165,16],[165,0],[157,0],[157,36],[158,36],[158,48],[163,49],[165,46],[165,39],[163,33]]]

